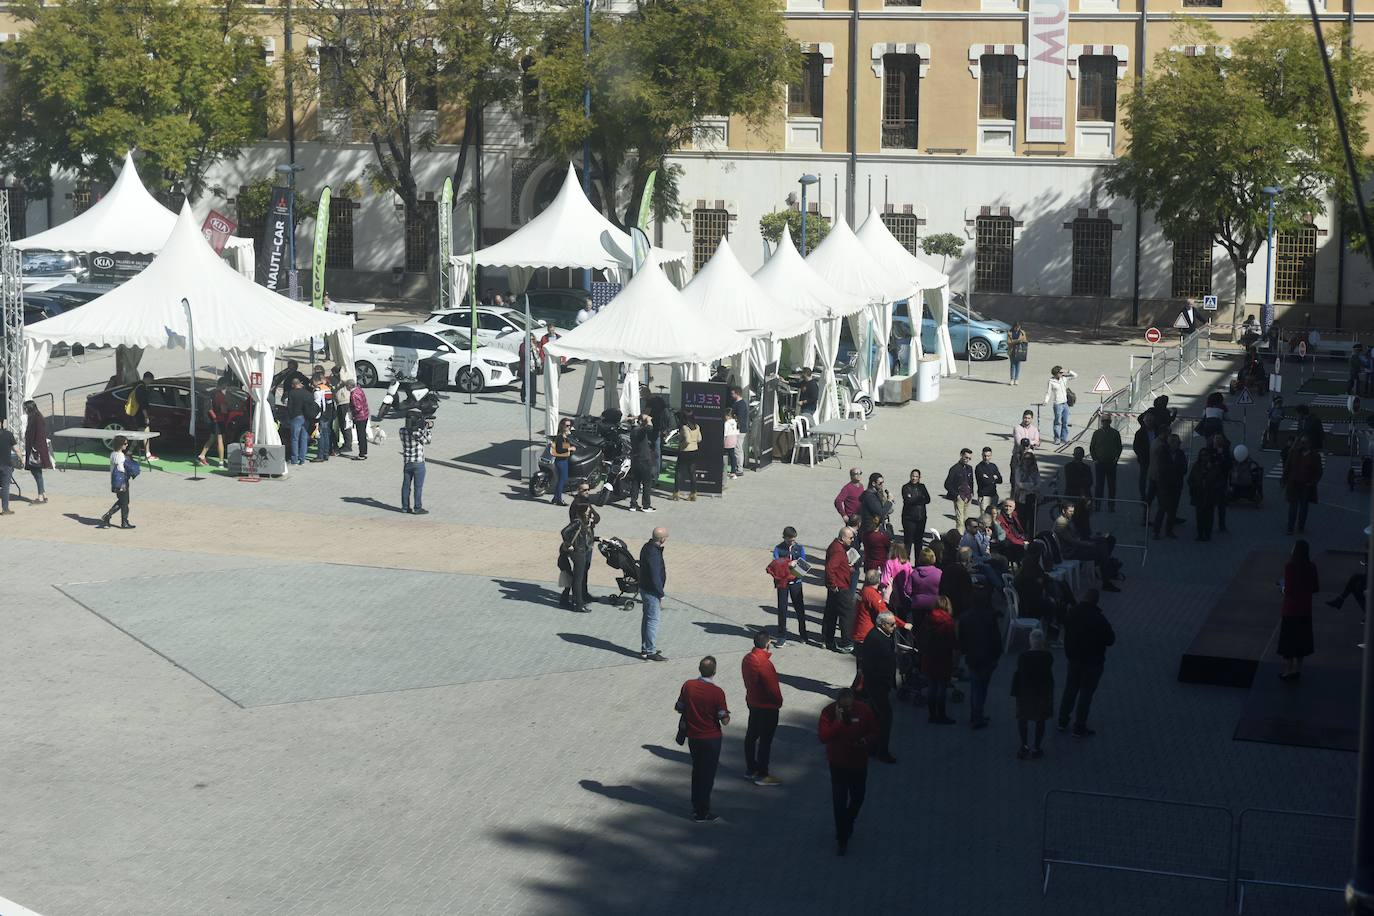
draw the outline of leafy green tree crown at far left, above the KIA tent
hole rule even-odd
[[[271,76],[242,0],[21,0],[0,45],[0,162],[37,196],[52,170],[109,181],[136,150],[154,191],[192,199],[262,137]]]

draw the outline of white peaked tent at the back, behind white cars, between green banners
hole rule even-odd
[[[650,261],[660,265],[682,261],[684,257],[682,251],[662,249],[650,253]],[[463,298],[467,288],[471,262],[471,251],[452,257],[455,302]],[[510,238],[480,249],[477,264],[506,268],[511,293],[521,293],[539,268],[628,272],[635,265],[635,244],[628,232],[617,228],[592,206],[577,181],[577,172],[569,165],[567,177],[554,202]]]

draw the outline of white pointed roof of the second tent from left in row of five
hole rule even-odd
[[[749,276],[724,236],[716,253],[683,290],[683,298],[709,324],[747,336],[785,339],[811,330],[811,316],[778,302]]]

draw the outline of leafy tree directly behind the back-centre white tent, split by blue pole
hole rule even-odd
[[[741,115],[761,126],[778,114],[782,85],[801,69],[775,0],[638,0],[624,15],[598,14],[592,52],[583,52],[581,3],[566,4],[547,32],[533,74],[540,89],[540,150],[578,155],[591,140],[603,176],[606,216],[633,222],[649,174],[658,170],[654,203],[676,209],[676,174],[664,159],[686,146],[706,115]],[[583,91],[592,88],[592,111]],[[618,176],[629,169],[629,199]]]

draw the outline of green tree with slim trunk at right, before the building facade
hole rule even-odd
[[[1364,103],[1374,88],[1369,54],[1329,40],[1351,141],[1366,143]],[[1202,23],[1180,27],[1180,44],[1217,45]],[[1210,238],[1235,272],[1232,335],[1245,308],[1245,269],[1267,239],[1268,202],[1278,187],[1275,229],[1296,228],[1344,199],[1349,181],[1322,60],[1305,19],[1257,22],[1231,44],[1232,56],[1156,56],[1156,73],[1125,99],[1128,151],[1107,172],[1107,187],[1154,210],[1169,239]]]

